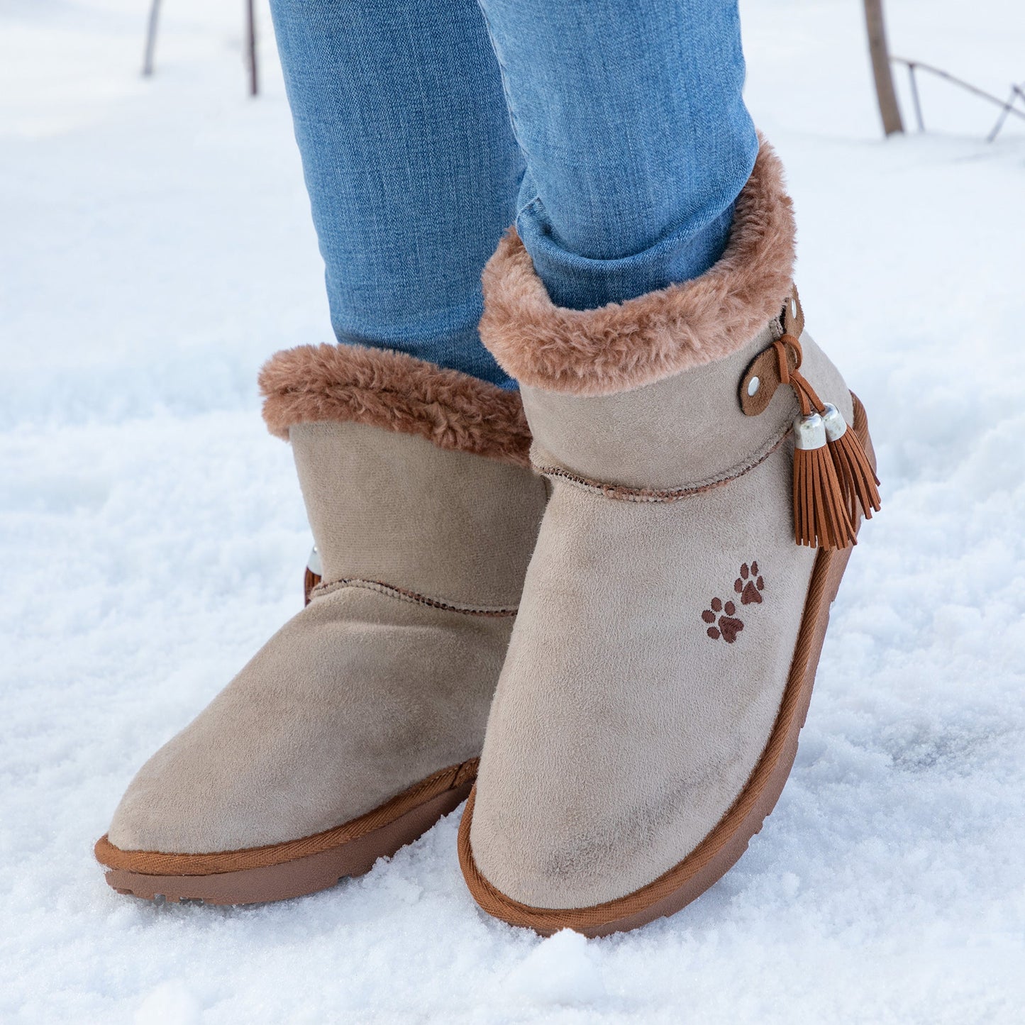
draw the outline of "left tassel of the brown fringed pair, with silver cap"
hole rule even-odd
[[[858,543],[818,413],[793,422],[793,536],[797,544],[849,548]]]

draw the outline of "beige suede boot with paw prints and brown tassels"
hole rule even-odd
[[[552,488],[459,831],[474,897],[508,922],[593,936],[672,913],[782,789],[878,507],[864,410],[802,336],[792,263],[763,145],[694,281],[578,312],[515,234],[488,264],[482,336]]]

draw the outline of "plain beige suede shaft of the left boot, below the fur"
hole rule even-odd
[[[323,584],[516,608],[544,507],[529,469],[364,423],[289,430]]]

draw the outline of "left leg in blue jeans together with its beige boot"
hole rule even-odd
[[[334,886],[465,797],[546,500],[521,396],[478,337],[521,167],[480,11],[273,6],[351,344],[278,353],[259,377],[316,543],[306,607],[96,845],[112,887],[172,902]]]

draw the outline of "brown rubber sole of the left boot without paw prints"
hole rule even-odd
[[[123,851],[102,836],[96,860],[118,893],[158,902],[261,904],[327,890],[370,871],[466,798],[477,758],[414,783],[366,815],[333,829],[266,847],[216,854]]]

